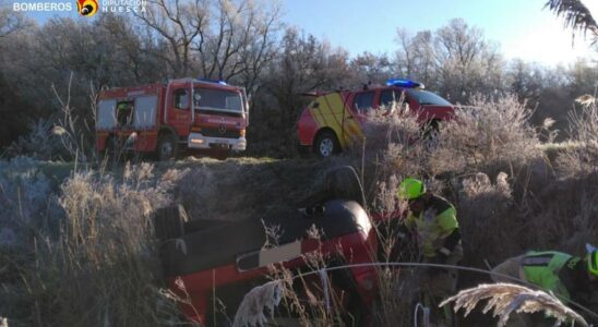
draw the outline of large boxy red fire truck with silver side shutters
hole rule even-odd
[[[190,77],[103,90],[96,146],[116,157],[137,152],[168,160],[179,149],[223,157],[246,149],[248,107],[244,88]]]

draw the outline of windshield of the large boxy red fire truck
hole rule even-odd
[[[243,101],[238,92],[195,87],[193,93],[195,109],[243,112]]]

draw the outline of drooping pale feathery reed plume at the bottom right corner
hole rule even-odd
[[[480,284],[463,290],[444,300],[440,306],[455,302],[455,312],[463,307],[467,316],[483,300],[488,300],[488,303],[482,312],[488,313],[492,310],[492,315],[499,316],[499,326],[501,327],[506,325],[513,313],[536,312],[543,312],[548,316],[554,317],[557,325],[574,320],[582,326],[589,326],[581,315],[563,305],[557,298],[543,291],[535,291],[511,283]]]

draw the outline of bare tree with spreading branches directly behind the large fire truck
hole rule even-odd
[[[200,73],[237,80],[250,89],[272,60],[279,27],[278,2],[152,0],[137,16],[168,44],[176,76]]]

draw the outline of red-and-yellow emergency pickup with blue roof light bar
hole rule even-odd
[[[454,113],[451,102],[424,90],[423,84],[409,80],[390,80],[386,86],[314,96],[301,113],[297,130],[300,147],[311,148],[320,157],[337,154],[355,140],[362,140],[370,110],[392,108],[402,101],[408,105],[403,108],[417,114],[418,122],[432,126],[451,119]]]

